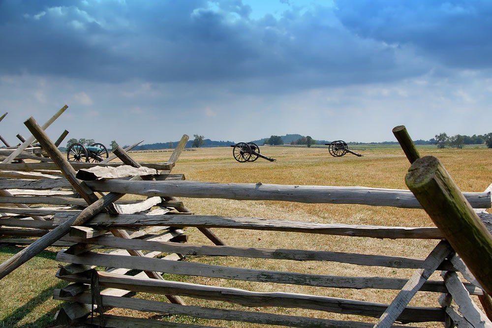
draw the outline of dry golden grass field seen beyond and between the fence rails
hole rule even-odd
[[[238,163],[232,157],[231,148],[207,148],[184,151],[173,173],[183,173],[187,180],[238,183],[281,183],[300,185],[371,186],[407,189],[404,177],[409,163],[399,146],[354,146],[364,154],[356,157],[346,154],[335,158],[326,148],[261,147],[261,152],[277,158],[277,162],[258,159],[253,163]],[[464,149],[436,149],[435,146],[419,147],[421,155],[437,156],[463,191],[483,191],[492,182],[492,149],[468,147]],[[132,153],[141,162],[166,161],[170,152]],[[196,214],[263,217],[288,220],[305,220],[320,223],[370,224],[389,226],[432,226],[427,214],[420,209],[396,209],[386,207],[298,204],[274,201],[232,201],[218,199],[183,199],[184,204]],[[301,248],[365,254],[385,254],[423,258],[437,241],[402,239],[376,240],[338,236],[315,236],[299,233],[260,232],[253,230],[214,229],[215,233],[230,245],[273,248]],[[188,228],[190,243],[211,244],[196,229]],[[0,247],[0,261],[10,257],[18,248]],[[65,283],[55,278],[58,263],[54,261],[56,248],[50,248],[29,263],[0,280],[0,328],[50,327],[60,302],[51,299],[54,288]],[[264,268],[301,273],[392,276],[406,277],[412,270],[380,267],[360,267],[335,263],[294,262],[280,260],[246,260],[242,258],[201,257],[194,261],[240,268]],[[173,276],[172,279],[208,285],[243,288],[252,291],[285,291],[340,298],[353,298],[374,302],[391,302],[397,291],[337,290],[309,288],[305,286],[238,282],[223,279]],[[433,279],[439,279],[434,274]],[[150,294],[136,297],[163,299]],[[419,292],[411,305],[438,306],[438,294]],[[239,305],[184,298],[189,304],[213,304],[218,307],[247,309]],[[253,309],[254,310],[254,309]],[[365,320],[347,315],[326,314],[298,309],[273,308],[280,314],[309,315],[320,318]],[[130,313],[135,316],[160,318],[154,314],[113,309],[111,313]],[[204,323],[189,318],[172,318],[186,323]],[[213,322],[227,327],[261,327],[235,322]],[[422,325],[420,325],[422,326]],[[436,325],[440,326],[440,325]],[[432,326],[428,326],[432,327]]]

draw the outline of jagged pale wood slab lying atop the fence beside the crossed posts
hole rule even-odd
[[[115,178],[125,178],[133,176],[146,176],[151,174],[157,174],[157,170],[139,167],[134,168],[129,165],[122,165],[118,167],[110,166],[94,166],[88,169],[80,169],[77,171],[75,176],[77,179],[81,180],[99,180],[99,179],[115,179]]]

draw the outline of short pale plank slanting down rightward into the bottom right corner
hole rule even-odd
[[[482,311],[480,311],[478,306],[470,298],[470,295],[463,287],[456,272],[442,272],[441,276],[444,278],[446,287],[453,296],[456,305],[458,305],[458,310],[463,317],[471,323],[474,328],[491,328],[492,322]]]

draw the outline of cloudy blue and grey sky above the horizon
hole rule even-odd
[[[395,141],[492,132],[489,0],[0,0],[0,134]]]

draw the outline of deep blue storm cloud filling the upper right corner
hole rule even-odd
[[[445,65],[492,66],[492,1],[337,1],[335,12],[353,32],[390,44],[411,44]]]

